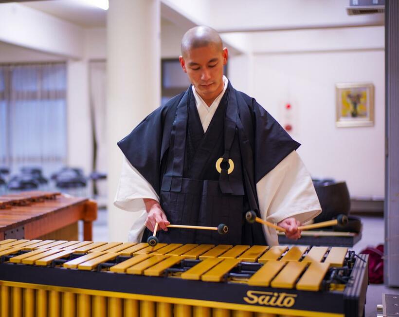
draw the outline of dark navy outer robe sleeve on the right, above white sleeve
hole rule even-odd
[[[252,104],[254,123],[255,182],[275,168],[288,154],[299,148],[280,124],[255,99]]]

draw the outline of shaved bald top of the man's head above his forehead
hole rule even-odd
[[[208,45],[215,45],[218,50],[223,50],[218,32],[208,26],[196,26],[188,30],[181,39],[181,55],[185,57],[188,51]]]

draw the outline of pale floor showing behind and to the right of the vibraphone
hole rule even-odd
[[[377,246],[384,242],[384,219],[376,216],[361,216],[363,224],[362,240],[356,243],[353,250],[359,253],[365,247]],[[100,209],[94,222],[93,241],[108,241],[107,210]],[[384,284],[370,284],[367,288],[365,317],[377,316],[377,304],[381,304],[381,295],[399,294],[399,288],[389,288]]]

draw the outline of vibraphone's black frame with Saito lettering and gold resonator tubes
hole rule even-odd
[[[72,317],[76,310],[85,317],[149,317],[156,312],[167,317],[173,311],[176,317],[197,317],[211,316],[212,308],[213,316],[230,316],[232,311],[233,316],[362,317],[368,283],[366,255],[356,258],[350,277],[343,290],[309,292],[3,262],[0,316],[9,317],[13,311],[15,316],[47,316],[47,312],[60,316],[62,312],[63,317]],[[269,305],[265,296],[274,297]],[[35,307],[36,315],[32,313]]]

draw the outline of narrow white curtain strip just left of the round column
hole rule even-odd
[[[105,61],[90,62],[90,106],[93,126],[93,170],[107,171],[107,73]],[[97,182],[99,196],[106,196],[107,182]]]

